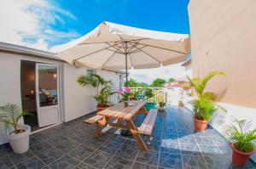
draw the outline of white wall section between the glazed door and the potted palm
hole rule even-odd
[[[71,121],[79,116],[96,111],[96,102],[90,97],[95,93],[94,89],[91,87],[81,87],[77,82],[79,76],[84,75],[87,75],[85,68],[64,64],[64,121]]]

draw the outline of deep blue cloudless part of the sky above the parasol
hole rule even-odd
[[[155,31],[189,33],[189,0],[61,0],[57,5],[73,14],[77,20],[56,22],[57,31],[72,30],[84,35],[107,20]],[[67,42],[62,39],[58,44]],[[55,45],[50,43],[50,46]]]

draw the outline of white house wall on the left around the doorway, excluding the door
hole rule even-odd
[[[61,120],[71,121],[79,116],[86,115],[96,110],[96,102],[90,96],[94,90],[90,87],[81,87],[77,83],[79,76],[86,75],[85,68],[77,68],[61,61],[32,58],[20,54],[0,52],[0,105],[16,103],[21,105],[20,92],[20,60],[30,60],[41,63],[60,65],[60,96]],[[106,80],[111,80],[114,85],[119,84],[119,73],[97,70]],[[118,82],[116,82],[118,81]],[[23,119],[20,121],[23,124]],[[0,124],[0,144],[7,139]]]

